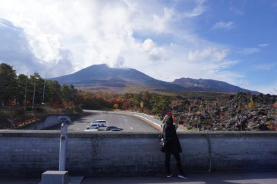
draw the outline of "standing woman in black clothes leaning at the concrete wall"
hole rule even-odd
[[[163,120],[165,126],[163,127],[163,133],[166,138],[166,173],[167,177],[170,178],[173,176],[170,172],[170,155],[173,155],[176,160],[177,168],[178,168],[178,177],[179,178],[187,178],[184,174],[183,168],[181,166],[181,145],[179,142],[179,138],[176,134],[176,127],[173,125],[172,113],[168,113],[166,118]]]

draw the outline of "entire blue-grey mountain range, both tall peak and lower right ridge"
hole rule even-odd
[[[170,91],[215,91],[224,93],[250,92],[226,82],[217,80],[180,78],[173,82],[156,80],[145,73],[133,68],[111,68],[107,64],[95,64],[82,70],[55,77],[50,80],[57,80],[61,84],[73,84],[80,89],[87,91],[95,90],[116,90],[123,91],[126,88],[133,89],[155,89]]]

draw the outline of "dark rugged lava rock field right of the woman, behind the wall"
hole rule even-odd
[[[277,130],[277,95],[237,93],[215,100],[176,100],[173,104],[176,122],[186,131]]]

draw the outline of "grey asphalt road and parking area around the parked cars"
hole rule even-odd
[[[89,126],[90,122],[96,120],[106,120],[107,126],[115,126],[123,128],[123,131],[132,132],[153,132],[157,131],[152,126],[148,125],[143,120],[136,118],[131,115],[121,114],[121,113],[106,113],[106,111],[86,111],[89,113],[88,116],[84,116],[78,120],[75,120],[69,124],[69,131],[83,131]],[[132,113],[129,113],[132,114]],[[54,129],[59,130],[60,127],[55,127]],[[99,131],[105,131],[106,127],[100,127]]]

